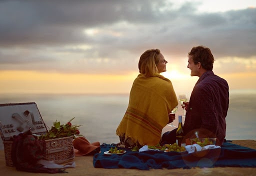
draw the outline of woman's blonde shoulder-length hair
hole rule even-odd
[[[147,49],[141,54],[138,61],[139,72],[145,76],[153,76],[158,73],[157,63],[159,62],[159,49]]]

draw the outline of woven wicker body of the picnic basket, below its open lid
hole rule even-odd
[[[11,160],[12,141],[3,141],[5,164],[13,166]],[[46,160],[54,160],[55,163],[63,163],[74,158],[73,136],[45,140],[44,157]]]

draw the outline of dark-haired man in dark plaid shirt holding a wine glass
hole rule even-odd
[[[221,145],[225,138],[229,103],[228,84],[226,80],[212,71],[214,58],[209,48],[196,46],[188,52],[187,68],[191,76],[198,76],[190,95],[183,125],[184,138],[190,138],[194,132],[199,137],[216,137],[216,144]]]

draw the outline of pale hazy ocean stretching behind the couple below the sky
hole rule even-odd
[[[255,99],[255,92],[230,92],[226,117],[227,140],[256,140]],[[100,143],[119,142],[115,130],[125,113],[128,100],[128,94],[0,94],[0,103],[35,102],[48,129],[55,120],[64,124],[75,117],[71,122],[81,125],[80,133],[90,142]],[[177,126],[177,116],[182,113],[182,108],[179,108],[174,125]],[[162,133],[172,129],[166,125]],[[0,149],[3,149],[2,140]]]

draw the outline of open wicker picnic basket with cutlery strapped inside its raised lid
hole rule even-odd
[[[0,104],[0,112],[0,134],[3,140],[5,164],[6,166],[13,166],[11,160],[13,136],[18,135],[20,132],[30,130],[31,128],[32,134],[45,136],[48,134],[49,130],[46,129],[46,125],[34,102]],[[25,112],[28,113],[25,114]],[[59,124],[59,122],[57,124]],[[71,126],[70,121],[69,124],[70,127],[73,126]],[[77,128],[77,126],[75,126],[75,128]],[[63,163],[72,160],[74,158],[73,137],[74,135],[72,134],[65,135],[64,133],[54,138],[39,138],[39,140],[44,140],[45,143],[44,159],[54,160],[55,163]]]

